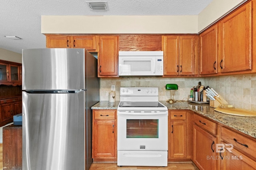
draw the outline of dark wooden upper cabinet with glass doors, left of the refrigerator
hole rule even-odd
[[[0,60],[0,84],[17,86],[22,84],[20,63]]]

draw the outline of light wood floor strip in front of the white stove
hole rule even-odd
[[[167,169],[167,170],[198,170],[192,162],[178,162],[168,163],[167,167],[159,166],[117,166],[116,163],[92,163],[90,170],[153,170],[153,169]]]

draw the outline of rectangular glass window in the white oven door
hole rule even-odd
[[[126,138],[158,138],[158,119],[126,119]]]

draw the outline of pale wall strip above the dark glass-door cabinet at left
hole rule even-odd
[[[0,48],[0,60],[22,63],[22,54]]]

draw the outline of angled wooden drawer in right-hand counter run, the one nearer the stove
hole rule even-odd
[[[202,127],[203,129],[209,131],[214,135],[217,134],[217,124],[202,116],[194,114],[194,123],[196,123],[199,127]]]

